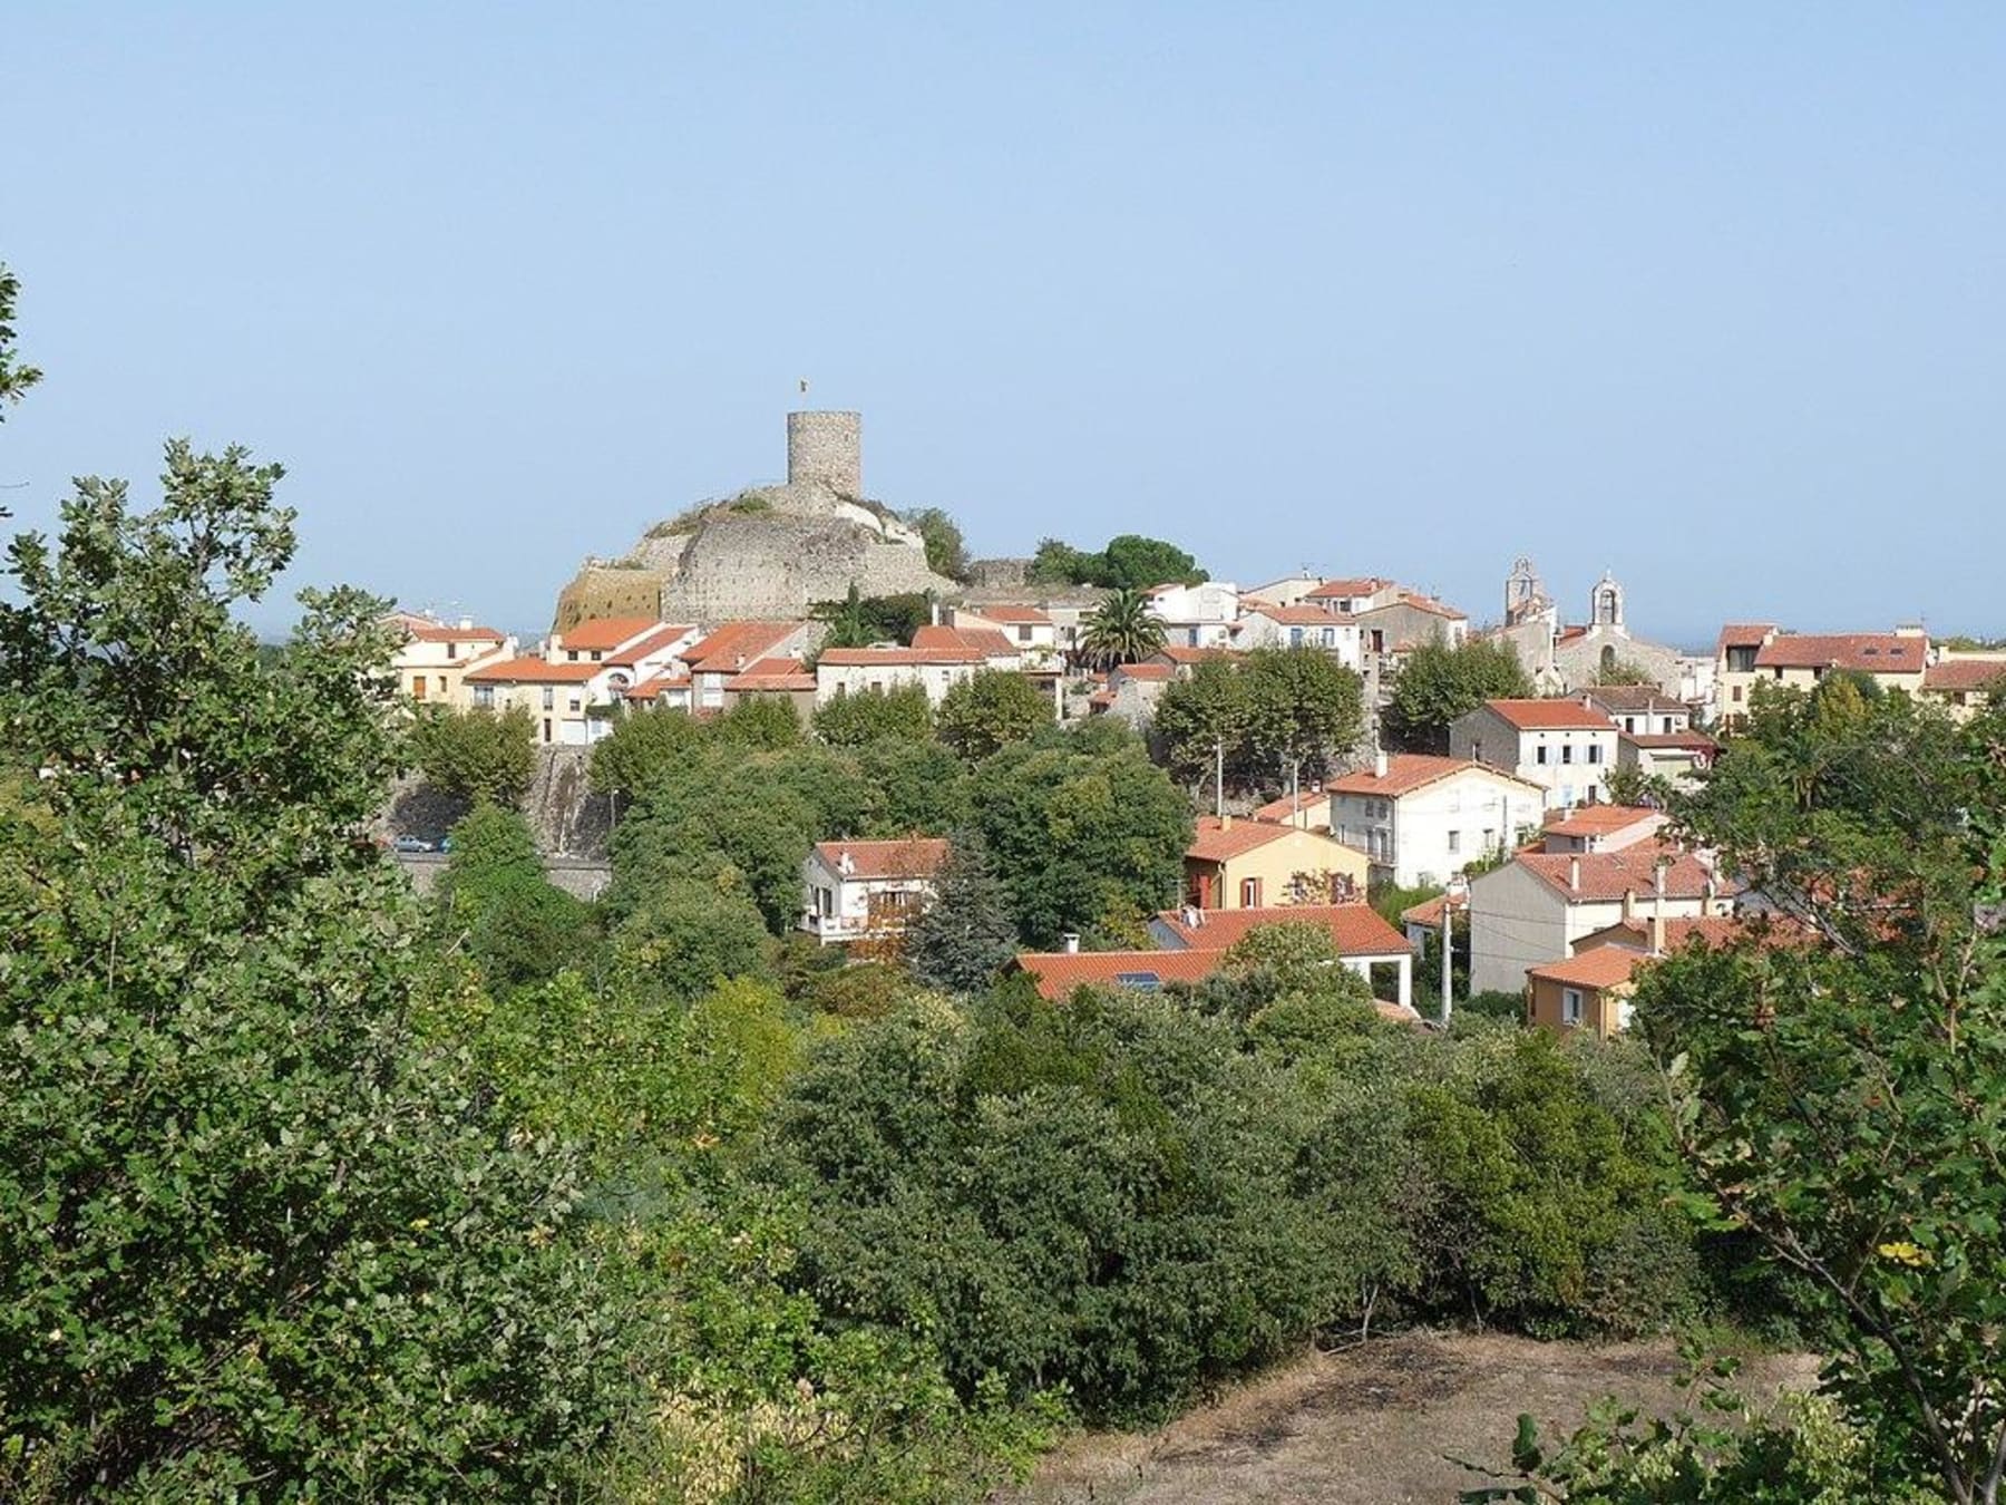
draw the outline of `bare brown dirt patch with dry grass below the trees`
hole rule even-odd
[[[1452,1501],[1478,1475],[1450,1459],[1502,1463],[1521,1411],[1573,1429],[1617,1395],[1673,1411],[1669,1342],[1583,1346],[1500,1334],[1414,1332],[1308,1354],[1155,1433],[1075,1437],[1045,1459],[1017,1505],[1408,1505]],[[1807,1387],[1809,1359],[1757,1359],[1749,1397]]]

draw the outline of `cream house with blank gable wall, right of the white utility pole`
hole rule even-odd
[[[1521,855],[1470,879],[1470,989],[1525,987],[1529,967],[1631,919],[1731,913],[1727,887],[1691,853],[1641,841],[1609,853]]]

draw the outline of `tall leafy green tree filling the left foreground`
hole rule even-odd
[[[381,602],[237,620],[275,466],[80,482],[0,602],[0,1493],[562,1493],[630,1401],[568,1152],[407,1033]],[[526,1236],[536,1230],[536,1236]]]

